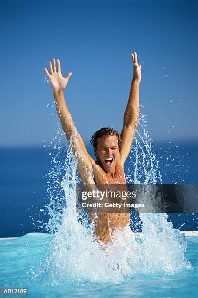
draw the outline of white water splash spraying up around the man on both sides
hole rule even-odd
[[[89,226],[85,217],[75,212],[75,187],[78,182],[76,160],[67,148],[66,161],[62,165],[65,173],[61,179],[59,151],[49,172],[50,204],[47,209],[51,219],[46,227],[54,233],[54,237],[48,257],[40,266],[42,274],[46,275],[44,282],[54,285],[65,282],[77,285],[85,282],[120,283],[138,273],[173,274],[191,268],[184,257],[184,236],[173,229],[172,223],[167,222],[167,214],[140,214],[144,235],[132,233],[126,226],[123,231],[114,233],[113,245],[101,249],[95,241],[93,227]],[[131,163],[126,169],[127,182],[162,183],[146,119],[142,114],[129,158]],[[57,188],[64,191],[64,197],[61,194],[57,196]],[[144,200],[149,203],[149,195]]]

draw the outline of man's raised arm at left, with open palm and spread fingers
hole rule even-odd
[[[71,145],[73,154],[78,159],[78,172],[82,179],[83,183],[91,184],[91,174],[92,174],[92,165],[94,159],[90,157],[85,147],[85,144],[77,132],[75,124],[73,122],[72,116],[67,108],[64,89],[68,84],[69,78],[72,73],[68,73],[66,77],[63,77],[61,74],[60,61],[57,60],[57,70],[56,62],[53,59],[53,65],[49,62],[50,73],[47,68],[45,68],[45,73],[50,80],[50,84],[53,89],[54,100],[56,104],[56,110],[63,128],[65,135],[69,144]]]

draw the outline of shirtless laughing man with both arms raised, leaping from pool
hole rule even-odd
[[[90,144],[93,145],[96,161],[88,154],[83,139],[77,132],[72,116],[67,108],[64,89],[72,73],[66,77],[61,74],[60,61],[49,62],[50,73],[45,68],[53,89],[56,109],[63,131],[71,145],[73,154],[78,160],[78,172],[82,183],[96,184],[126,184],[124,163],[130,152],[135,129],[139,118],[139,85],[141,81],[141,65],[138,65],[137,53],[131,54],[133,61],[133,79],[130,95],[124,113],[121,135],[111,128],[102,128],[94,133]],[[94,180],[93,180],[94,179]],[[100,213],[97,219],[89,214],[90,222],[95,226],[95,236],[104,244],[111,242],[113,232],[123,229],[130,223],[129,213]]]

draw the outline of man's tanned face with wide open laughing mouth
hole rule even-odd
[[[119,156],[118,139],[115,135],[103,136],[97,139],[97,147],[94,152],[98,163],[105,172],[112,172],[115,169],[116,161]]]

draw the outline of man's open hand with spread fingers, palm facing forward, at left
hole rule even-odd
[[[67,86],[67,83],[72,73],[68,73],[66,77],[63,77],[61,74],[60,60],[58,59],[57,59],[57,71],[56,71],[55,59],[53,59],[53,66],[52,66],[52,63],[49,62],[49,67],[50,67],[51,75],[49,74],[47,68],[45,68],[45,73],[50,80],[50,84],[52,86],[53,92],[58,93],[60,91],[63,91],[63,89],[65,89],[65,87]]]

